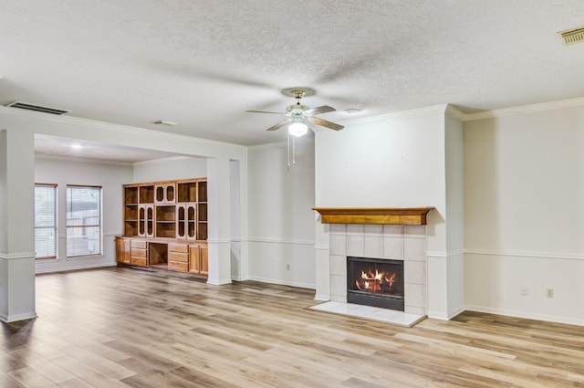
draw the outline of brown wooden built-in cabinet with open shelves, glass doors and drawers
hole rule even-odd
[[[208,274],[206,178],[125,184],[116,261]]]

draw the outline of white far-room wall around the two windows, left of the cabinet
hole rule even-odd
[[[35,182],[57,184],[57,259],[36,260],[36,272],[114,266],[115,236],[122,234],[121,185],[132,180],[130,164],[91,163],[72,160],[36,158]],[[103,254],[95,257],[67,258],[66,189],[68,184],[87,184],[102,187]]]

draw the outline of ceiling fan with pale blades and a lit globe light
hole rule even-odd
[[[317,114],[327,113],[329,111],[335,111],[334,108],[331,108],[327,105],[323,105],[317,108],[309,108],[307,105],[302,105],[300,100],[306,94],[306,91],[303,89],[292,89],[290,90],[292,96],[297,100],[296,104],[288,105],[286,107],[286,112],[284,113],[287,118],[283,121],[272,125],[266,131],[276,131],[280,128],[288,125],[288,132],[294,136],[302,136],[308,131],[308,122],[312,124],[317,124],[321,127],[325,127],[334,131],[340,131],[345,128],[342,125],[339,125],[335,122],[319,119],[318,117],[314,117]],[[245,110],[249,113],[272,113],[272,114],[282,114],[279,112],[274,111],[265,111],[265,110]]]

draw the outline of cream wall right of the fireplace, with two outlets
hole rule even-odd
[[[583,149],[584,107],[465,122],[467,309],[584,324]]]

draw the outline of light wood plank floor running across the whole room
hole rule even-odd
[[[112,267],[36,278],[0,387],[584,386],[584,327],[466,312],[412,329],[307,309],[313,291]]]

